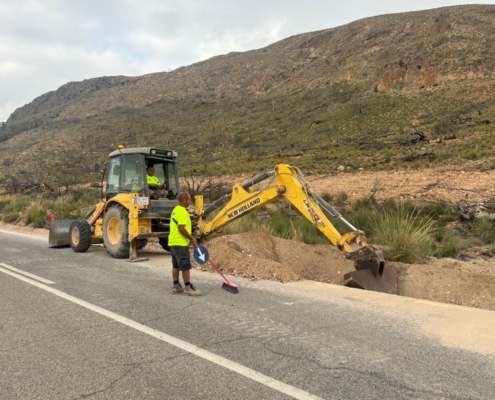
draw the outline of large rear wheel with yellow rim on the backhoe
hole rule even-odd
[[[103,218],[103,244],[114,258],[129,257],[129,210],[120,204],[111,206]]]

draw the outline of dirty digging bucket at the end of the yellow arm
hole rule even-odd
[[[346,254],[354,261],[356,271],[344,275],[344,286],[397,294],[397,270],[385,266],[383,253],[375,246],[365,246]]]

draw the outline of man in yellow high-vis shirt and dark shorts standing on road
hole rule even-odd
[[[175,206],[170,217],[170,234],[168,236],[168,246],[172,253],[172,278],[174,286],[172,293],[185,293],[189,296],[200,296],[201,291],[197,290],[191,283],[190,271],[192,268],[189,254],[189,243],[196,246],[196,238],[191,234],[191,217],[189,216],[189,206],[191,205],[191,195],[183,192],[179,195],[179,204]],[[184,287],[179,283],[179,271],[182,272]]]

